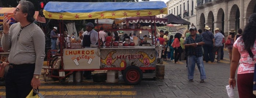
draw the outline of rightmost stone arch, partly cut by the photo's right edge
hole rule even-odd
[[[256,13],[256,0],[251,0],[247,6],[245,15],[245,24],[249,22],[249,17],[253,13]]]

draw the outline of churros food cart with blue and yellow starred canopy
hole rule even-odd
[[[131,16],[153,16],[151,19],[155,19],[154,15],[159,14],[167,14],[167,6],[163,1],[48,2],[44,8],[45,18],[59,20],[60,34],[64,32],[63,20],[112,19]],[[156,30],[153,29],[154,25],[152,23],[150,30]],[[112,29],[112,31],[118,30],[143,29]],[[74,49],[74,46],[77,45],[78,49]],[[63,49],[63,46],[64,37],[60,36],[60,53],[54,58],[51,51],[56,50],[49,50],[48,67],[44,68],[46,76],[60,81],[65,80],[75,71],[114,70],[122,71],[125,83],[137,84],[141,82],[142,77],[147,76],[147,72],[154,72],[156,69],[156,44],[151,46],[91,45],[91,47],[81,48],[81,43],[79,43],[71,44],[73,47],[71,49]],[[56,64],[60,64],[60,66],[55,67]],[[155,76],[155,73],[152,76]]]

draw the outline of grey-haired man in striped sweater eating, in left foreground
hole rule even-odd
[[[39,76],[45,57],[45,34],[34,23],[35,8],[30,1],[19,1],[14,10],[14,23],[3,19],[2,48],[10,50],[10,68],[5,80],[6,98],[25,98],[40,86]]]

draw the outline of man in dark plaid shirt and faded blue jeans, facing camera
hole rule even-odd
[[[185,41],[185,47],[188,49],[188,79],[190,82],[194,80],[194,69],[197,65],[200,72],[200,83],[204,83],[205,70],[203,63],[202,45],[204,45],[203,37],[200,34],[196,34],[196,27],[189,27],[190,35]]]

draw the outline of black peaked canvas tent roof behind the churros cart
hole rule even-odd
[[[173,14],[164,16],[164,18],[168,18],[168,23],[171,23],[171,24],[190,24],[190,22],[188,22],[182,18],[179,18]]]

